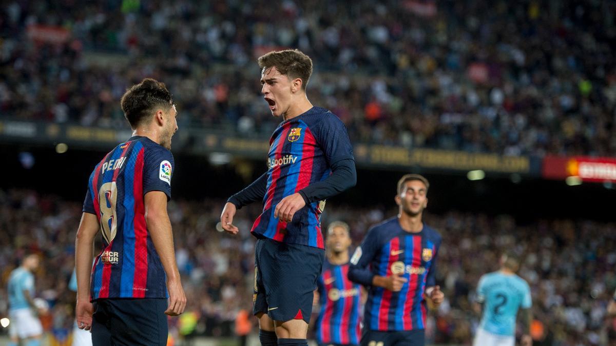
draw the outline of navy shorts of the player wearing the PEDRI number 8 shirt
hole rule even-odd
[[[167,344],[167,299],[99,299],[94,302],[92,345]]]

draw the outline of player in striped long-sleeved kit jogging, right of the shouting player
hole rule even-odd
[[[445,298],[434,278],[441,238],[421,220],[428,188],[423,176],[404,175],[398,216],[371,228],[351,258],[349,279],[370,286],[362,345],[424,345],[426,300]]]

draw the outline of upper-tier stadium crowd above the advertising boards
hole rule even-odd
[[[183,125],[269,135],[254,58],[314,58],[309,97],[354,142],[616,155],[613,1],[188,0],[0,5],[0,116],[124,126],[168,84]]]

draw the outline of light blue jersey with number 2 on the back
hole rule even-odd
[[[514,336],[517,311],[532,307],[529,284],[517,275],[501,272],[481,277],[477,302],[484,304],[480,328],[503,336]]]

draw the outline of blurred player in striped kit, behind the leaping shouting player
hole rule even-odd
[[[360,340],[359,284],[347,278],[349,273],[349,225],[332,222],[327,228],[326,260],[318,278],[321,312],[315,323],[319,345],[357,345]]]

